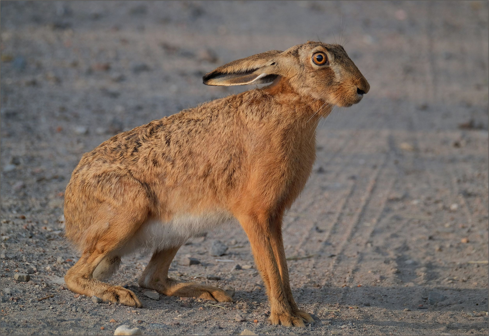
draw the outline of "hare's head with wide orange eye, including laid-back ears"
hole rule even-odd
[[[204,75],[206,85],[288,84],[301,96],[348,107],[370,85],[342,46],[307,42],[242,58]]]

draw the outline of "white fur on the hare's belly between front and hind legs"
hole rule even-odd
[[[216,229],[226,221],[236,221],[228,212],[215,212],[205,215],[179,215],[169,222],[157,219],[148,220],[141,225],[135,235],[118,251],[119,256],[137,250],[161,251],[183,245],[188,239]]]

